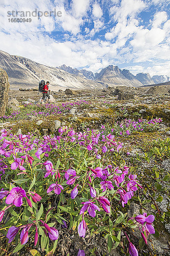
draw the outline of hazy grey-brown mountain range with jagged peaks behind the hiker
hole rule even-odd
[[[149,73],[139,73],[134,76],[129,70],[121,70],[113,65],[105,67],[95,74],[85,69],[78,70],[66,65],[49,67],[3,51],[0,51],[0,67],[6,70],[10,87],[15,90],[19,87],[37,86],[42,79],[50,81],[50,88],[54,91],[65,90],[66,88],[97,89],[108,86],[140,87],[170,81],[167,76],[153,76],[151,78]]]

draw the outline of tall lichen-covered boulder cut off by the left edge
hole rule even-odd
[[[0,68],[0,116],[5,114],[8,104],[9,81],[5,70]]]

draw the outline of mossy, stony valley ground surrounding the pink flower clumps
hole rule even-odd
[[[157,131],[145,131],[143,133],[134,132],[128,137],[117,135],[117,139],[124,145],[125,162],[134,168],[136,173],[141,177],[141,182],[145,184],[148,189],[144,197],[143,195],[139,195],[141,201],[139,198],[136,198],[135,202],[127,206],[128,212],[130,212],[130,215],[139,214],[139,210],[143,206],[144,211],[159,215],[155,223],[155,228],[160,235],[158,235],[158,233],[156,233],[156,236],[151,235],[147,246],[144,244],[139,246],[141,248],[140,255],[167,256],[170,255],[170,225],[169,217],[164,217],[163,212],[169,212],[170,210],[169,192],[164,193],[163,190],[156,190],[154,186],[151,188],[150,184],[157,182],[156,178],[158,179],[158,177],[155,176],[156,172],[159,172],[161,177],[163,177],[162,175],[168,175],[170,172],[170,154],[167,153],[170,151],[166,149],[167,151],[165,150],[164,154],[161,153],[160,157],[156,155],[157,158],[155,158],[153,154],[150,154],[150,150],[152,150],[151,147],[155,147],[155,145],[159,148],[159,144],[170,137],[169,89],[168,87],[160,87],[157,90],[147,87],[138,89],[121,87],[116,88],[116,90],[115,88],[79,91],[68,90],[66,92],[68,94],[62,91],[51,92],[51,95],[54,97],[53,104],[61,106],[62,103],[70,102],[70,104],[73,103],[73,105],[69,105],[66,111],[61,109],[61,113],[45,117],[40,115],[36,116],[28,111],[29,108],[32,108],[29,106],[39,103],[40,93],[37,91],[10,90],[6,116],[10,116],[12,111],[20,111],[23,108],[26,108],[26,114],[23,115],[22,118],[0,119],[0,127],[11,128],[11,131],[15,133],[33,131],[37,136],[40,136],[41,134],[57,134],[57,129],[60,125],[71,125],[77,130],[81,130],[82,128],[99,129],[101,125],[112,125],[126,118],[146,118],[148,120],[156,117],[161,118],[163,121]],[[147,92],[147,90],[149,91]],[[74,104],[75,102],[83,100],[90,103],[84,105]],[[36,111],[42,111],[42,109],[36,109]],[[153,141],[156,141],[158,144],[152,144]],[[127,154],[127,152],[130,153]],[[151,174],[151,170],[153,175]],[[164,184],[162,179],[160,183],[161,186],[166,185],[169,191],[168,184]],[[164,199],[157,204],[153,204],[152,207],[151,203],[147,200],[150,199],[150,195],[152,194],[152,199],[155,201],[156,193],[163,196]],[[158,209],[156,207],[158,207]],[[122,206],[118,206],[118,209],[123,211]],[[62,229],[60,229],[60,240],[58,243],[61,244],[61,247],[59,247],[56,255],[74,256],[78,248],[84,249],[85,251],[87,250],[87,255],[91,256],[108,255],[107,239],[104,238],[104,233],[97,234],[96,236],[90,236],[90,233],[88,233],[85,239],[82,238],[81,242],[79,242],[78,235],[74,232],[70,231],[64,235],[62,232]],[[125,237],[123,237],[121,246],[112,250],[112,256],[122,256],[127,253],[127,251],[125,251],[124,239]],[[133,239],[134,243],[137,244],[136,247],[138,247],[139,239],[140,232],[139,234],[137,233],[137,236]],[[68,250],[70,254],[66,254]],[[27,248],[27,251],[29,252],[29,248]]]

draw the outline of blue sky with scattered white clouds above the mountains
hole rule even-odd
[[[35,9],[62,15],[8,21],[9,11]],[[170,76],[170,0],[5,0],[0,38],[1,50],[49,66]]]

